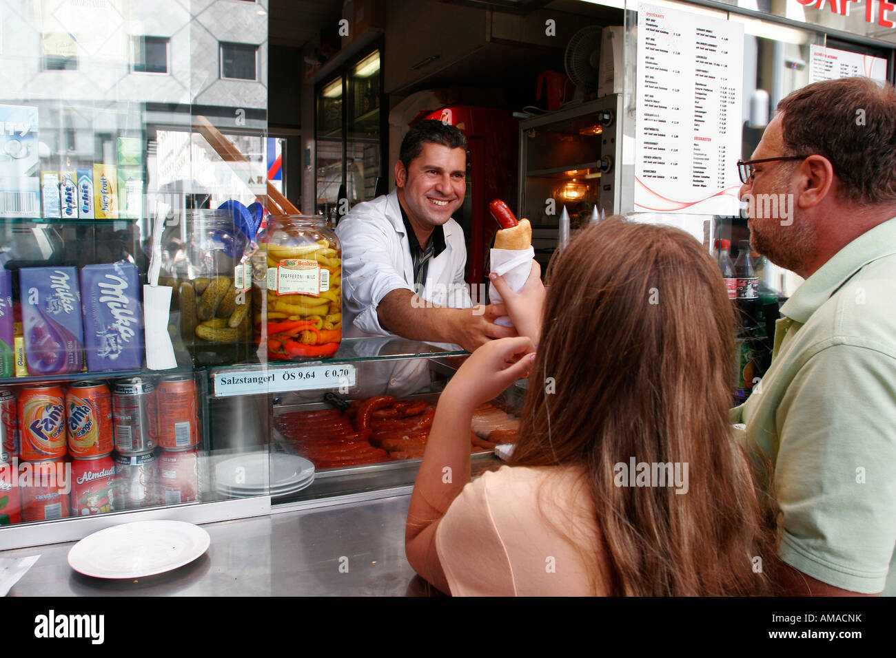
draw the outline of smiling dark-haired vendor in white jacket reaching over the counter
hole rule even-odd
[[[502,304],[471,308],[463,229],[452,219],[467,189],[467,141],[439,121],[415,124],[401,142],[396,189],[355,206],[342,244],[345,335],[455,343],[472,352],[515,336],[495,324]]]

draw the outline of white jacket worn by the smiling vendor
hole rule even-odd
[[[336,226],[342,245],[342,312],[345,338],[391,336],[376,307],[392,290],[414,291],[414,264],[401,219],[398,192],[358,203]],[[439,306],[470,308],[464,282],[467,247],[453,219],[444,224],[445,248],[430,259],[422,297]]]

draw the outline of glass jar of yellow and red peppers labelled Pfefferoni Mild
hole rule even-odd
[[[304,215],[271,216],[259,235],[256,258],[265,260],[267,277],[256,295],[267,296],[267,317],[264,327],[260,312],[254,320],[256,333],[267,337],[271,359],[322,359],[339,350],[342,250],[324,221]]]

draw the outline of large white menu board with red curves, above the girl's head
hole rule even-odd
[[[741,23],[638,8],[634,209],[737,215]]]

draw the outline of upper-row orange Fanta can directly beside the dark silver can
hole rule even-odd
[[[78,381],[65,393],[68,452],[99,457],[112,452],[112,395],[101,381]]]

